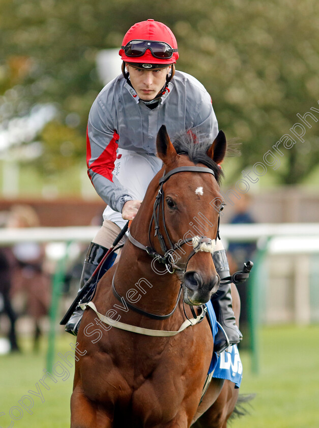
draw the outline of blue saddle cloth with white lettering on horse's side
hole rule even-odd
[[[216,315],[213,309],[212,302],[206,303],[207,316],[210,320],[212,334],[215,338],[218,331]],[[208,374],[213,372],[213,378],[228,379],[235,383],[235,388],[239,388],[243,377],[243,366],[239,356],[237,345],[228,347],[228,352],[223,351],[220,356],[213,352],[211,365]]]

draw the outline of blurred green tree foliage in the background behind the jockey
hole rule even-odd
[[[297,113],[319,108],[317,0],[0,0],[0,126],[23,127],[18,118],[51,109],[44,127],[15,144],[33,145],[37,154],[25,163],[50,177],[84,165],[86,120],[102,88],[96,55],[120,47],[130,26],[150,17],[175,33],[177,68],[205,85],[219,127],[242,143],[229,182],[263,162]],[[285,150],[276,183],[315,172],[317,129]]]

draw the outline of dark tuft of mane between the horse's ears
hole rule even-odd
[[[213,141],[204,134],[191,130],[177,133],[172,141],[177,153],[185,153],[194,164],[201,163],[213,170],[216,181],[220,184],[224,174],[213,159],[206,154],[212,143]]]

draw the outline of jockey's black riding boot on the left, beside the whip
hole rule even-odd
[[[80,280],[80,288],[78,290],[78,293],[82,290],[85,283],[91,278],[93,272],[96,270],[98,264],[100,263],[100,261],[102,260],[106,252],[107,252],[107,248],[102,247],[101,245],[95,244],[94,242],[90,244],[90,247],[88,249],[88,252],[86,253],[86,257],[84,260],[84,266],[83,266],[83,271],[82,271],[81,280]],[[116,256],[117,254],[113,253],[109,258],[107,258],[107,260],[105,260],[105,263],[103,263],[99,274],[95,277],[97,278],[97,280],[100,280],[102,276],[105,274],[105,272],[111,267]],[[93,279],[91,284],[88,286],[88,290],[82,299],[83,302],[89,302],[91,300],[97,285],[97,280],[95,278]],[[71,315],[70,319],[68,320],[65,326],[65,331],[76,336],[79,330],[82,315],[83,315],[82,309],[80,309],[80,307],[77,306],[76,310],[73,312],[73,314]]]

